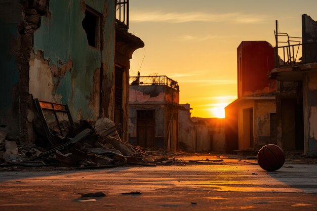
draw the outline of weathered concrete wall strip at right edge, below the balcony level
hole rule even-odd
[[[304,74],[304,153],[317,156],[317,73]]]

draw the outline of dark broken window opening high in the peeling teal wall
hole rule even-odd
[[[85,29],[88,44],[99,49],[101,14],[86,6],[85,18],[82,22]]]

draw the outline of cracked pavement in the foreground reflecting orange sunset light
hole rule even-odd
[[[221,159],[186,157],[185,159]],[[253,160],[253,162],[256,162]],[[317,210],[317,164],[272,173],[244,160],[223,165],[94,171],[0,171],[0,210]],[[81,193],[105,197],[78,202]],[[140,195],[123,195],[139,191]]]

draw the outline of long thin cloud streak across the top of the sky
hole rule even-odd
[[[232,22],[232,23],[262,23],[268,20],[266,15],[241,14],[241,13],[164,13],[161,11],[133,11],[130,13],[132,22]]]

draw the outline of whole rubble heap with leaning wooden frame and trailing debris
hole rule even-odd
[[[143,151],[121,140],[121,124],[108,118],[94,124],[86,120],[74,123],[67,105],[34,99],[37,118],[33,129],[34,143],[17,145],[17,139],[8,135],[0,125],[0,167],[8,166],[64,166],[108,168],[133,165],[222,164],[223,160],[180,160],[162,152]]]

